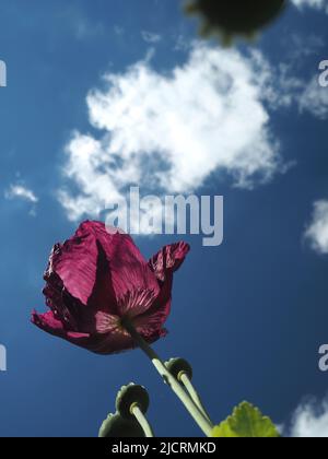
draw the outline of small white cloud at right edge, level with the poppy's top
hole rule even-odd
[[[315,251],[328,254],[328,201],[315,202],[313,220],[305,236]]]

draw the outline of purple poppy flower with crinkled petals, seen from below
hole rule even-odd
[[[136,346],[124,320],[154,342],[166,334],[173,273],[188,251],[187,244],[173,244],[147,262],[129,235],[84,222],[71,239],[54,247],[44,289],[49,311],[33,311],[32,322],[98,354]]]

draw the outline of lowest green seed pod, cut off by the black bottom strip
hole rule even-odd
[[[118,413],[109,414],[99,429],[99,438],[143,438],[144,432],[138,421],[129,421]]]

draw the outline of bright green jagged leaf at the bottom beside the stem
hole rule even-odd
[[[213,437],[221,438],[278,438],[279,432],[272,421],[263,416],[253,404],[243,402],[233,415],[214,427]]]

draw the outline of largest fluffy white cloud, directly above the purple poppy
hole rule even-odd
[[[169,74],[149,60],[107,74],[107,89],[87,96],[97,138],[74,132],[66,148],[59,199],[69,217],[96,215],[131,184],[187,192],[218,170],[244,188],[269,180],[280,157],[257,75],[254,58],[203,45]]]

